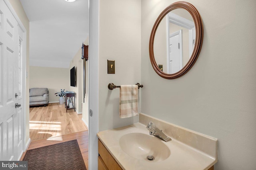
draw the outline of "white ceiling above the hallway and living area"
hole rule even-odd
[[[88,0],[20,2],[30,21],[30,65],[69,68],[88,37]]]

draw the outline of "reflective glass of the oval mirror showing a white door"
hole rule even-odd
[[[189,61],[195,45],[196,30],[192,16],[178,8],[160,22],[154,39],[154,57],[167,74],[180,71]]]

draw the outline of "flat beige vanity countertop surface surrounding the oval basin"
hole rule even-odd
[[[168,158],[158,162],[154,162],[154,160],[137,159],[126,154],[120,147],[120,138],[128,133],[143,133],[149,135],[149,131],[142,123],[100,131],[97,134],[100,141],[102,141],[103,145],[108,149],[110,154],[112,154],[116,162],[118,162],[118,164],[125,170],[207,170],[218,161],[217,153],[215,154],[215,157],[211,156],[202,150],[174,139],[170,135],[169,137],[172,138],[172,141],[165,142],[159,139],[160,142],[164,143],[170,149],[170,156],[168,156]],[[201,139],[202,136],[203,138],[208,137],[206,135],[200,135],[198,139]],[[158,139],[157,137],[155,138]],[[214,140],[214,138],[209,137],[209,140]],[[215,140],[216,145],[209,147],[217,147],[217,139]],[[209,150],[209,148],[207,148],[207,150]],[[212,150],[217,150],[217,148],[212,148]]]

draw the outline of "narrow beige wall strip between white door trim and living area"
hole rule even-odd
[[[18,15],[20,21],[22,22],[23,26],[26,28],[26,73],[28,77],[26,78],[26,143],[29,139],[29,20],[26,16],[26,13],[20,3],[20,0],[9,0],[10,4],[14,8],[16,14]]]

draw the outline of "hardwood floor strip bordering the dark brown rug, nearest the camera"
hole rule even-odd
[[[56,143],[62,143],[66,141],[72,141],[76,139],[80,148],[80,151],[82,153],[84,164],[86,166],[86,169],[88,170],[88,131],[82,131],[78,133],[72,133],[69,135],[63,135],[59,137],[52,137],[50,139],[42,139],[38,141],[32,141],[28,147],[28,150],[30,149],[36,149],[40,147],[45,147],[48,145],[54,145]],[[25,156],[26,152],[23,153],[22,158]]]

